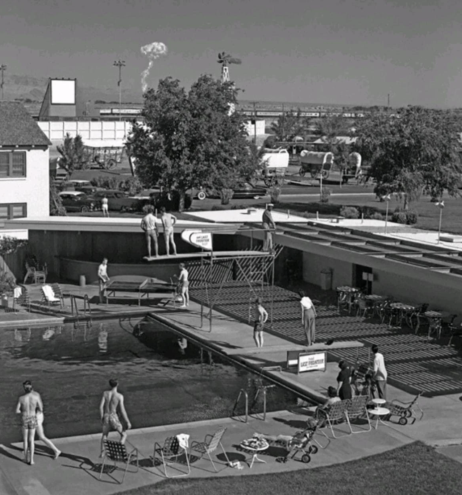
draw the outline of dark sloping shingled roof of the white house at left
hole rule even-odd
[[[0,102],[0,146],[50,146],[51,142],[19,102]]]

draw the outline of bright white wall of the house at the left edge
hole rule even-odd
[[[27,203],[27,216],[48,216],[49,150],[26,151],[26,177],[0,179],[0,203]]]

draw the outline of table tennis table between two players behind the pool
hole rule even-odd
[[[130,282],[113,280],[104,288],[104,297],[106,304],[110,299],[115,299],[116,292],[133,292],[137,294],[138,306],[141,306],[141,299],[166,299],[164,306],[173,302],[175,305],[175,296],[177,295],[177,284],[172,282],[163,282],[155,278],[146,278],[143,282]],[[123,297],[123,296],[122,296]]]

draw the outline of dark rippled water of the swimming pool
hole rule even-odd
[[[201,363],[199,348],[186,341],[180,345],[152,320],[144,321],[142,335],[135,337],[139,321],[1,329],[0,443],[21,439],[14,411],[26,379],[42,396],[51,438],[101,431],[99,403],[111,377],[119,380],[132,428],[229,417],[240,388],[248,389],[251,402],[254,375],[215,355],[210,366],[207,352]],[[267,410],[295,402],[293,394],[274,388]]]

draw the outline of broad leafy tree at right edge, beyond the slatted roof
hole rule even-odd
[[[403,208],[424,194],[441,198],[459,194],[461,118],[450,111],[409,106],[398,118],[372,113],[357,124],[354,149],[370,165],[375,193],[394,193]]]

